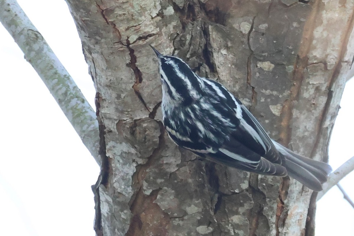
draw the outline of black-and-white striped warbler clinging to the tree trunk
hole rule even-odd
[[[322,190],[332,171],[329,165],[270,139],[224,86],[199,77],[181,59],[152,49],[159,61],[163,123],[173,142],[217,163],[265,175],[289,174],[310,189]]]

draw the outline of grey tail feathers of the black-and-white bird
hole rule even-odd
[[[301,156],[274,141],[273,143],[284,156],[283,165],[290,177],[314,191],[322,190],[322,183],[327,181],[328,175],[332,172],[330,165]]]

